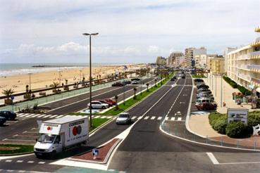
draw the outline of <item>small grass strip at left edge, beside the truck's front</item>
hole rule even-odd
[[[33,146],[0,144],[0,154],[19,154],[33,151]]]

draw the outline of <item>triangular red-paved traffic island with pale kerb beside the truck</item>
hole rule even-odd
[[[94,150],[98,150],[98,155],[94,155],[92,152],[93,150],[88,150],[85,153],[80,153],[68,158],[68,160],[106,164],[111,156],[111,153],[121,140],[122,139],[112,139],[112,141],[104,144],[104,146],[94,148]]]

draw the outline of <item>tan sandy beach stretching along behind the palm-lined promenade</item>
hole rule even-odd
[[[137,66],[140,65],[128,65],[128,68],[136,68]],[[82,69],[82,72],[80,72],[80,69]],[[97,75],[107,77],[107,75],[115,74],[116,72],[123,72],[123,65],[92,67],[92,77],[97,77]],[[39,72],[30,76],[32,90],[46,88],[53,82],[59,82],[58,71]],[[0,91],[2,92],[3,89],[13,89],[15,93],[24,92],[26,85],[30,84],[30,76],[23,74],[0,77]],[[82,77],[85,77],[85,80],[87,80],[88,76],[89,68],[63,69],[61,70],[61,84],[66,84],[66,79],[68,79],[68,84],[74,84],[75,82],[80,82]],[[0,93],[0,96],[4,96],[4,94]]]

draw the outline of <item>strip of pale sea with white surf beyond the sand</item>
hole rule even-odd
[[[45,67],[39,67],[40,65]],[[115,63],[93,63],[92,67],[104,65],[120,65]],[[38,66],[38,67],[33,67]],[[47,66],[47,67],[46,67]],[[0,63],[0,76],[47,72],[54,70],[88,67],[86,63]]]

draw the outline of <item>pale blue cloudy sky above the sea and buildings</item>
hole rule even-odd
[[[0,0],[0,63],[154,63],[201,47],[223,54],[259,34],[259,0]]]

